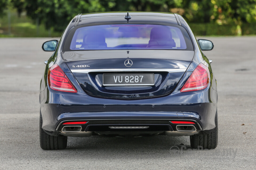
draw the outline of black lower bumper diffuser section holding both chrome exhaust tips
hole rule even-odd
[[[95,120],[86,124],[57,126],[57,131],[64,136],[86,137],[93,134],[114,136],[143,136],[165,134],[168,136],[194,135],[201,131],[198,122],[192,124],[175,124],[167,120]],[[183,129],[183,128],[186,129]],[[68,131],[68,132],[67,132]]]

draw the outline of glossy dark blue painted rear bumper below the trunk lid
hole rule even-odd
[[[40,103],[42,128],[50,135],[58,135],[61,124],[72,120],[104,121],[104,124],[110,124],[109,121],[131,124],[153,121],[152,124],[156,124],[160,120],[191,120],[198,123],[201,128],[198,130],[210,130],[215,128],[217,91],[208,87],[152,99],[113,100],[91,97],[84,92],[67,93],[46,88],[40,93]]]

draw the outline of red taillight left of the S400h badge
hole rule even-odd
[[[61,70],[58,64],[54,64],[48,71],[48,83],[51,89],[64,92],[76,93],[77,90]]]

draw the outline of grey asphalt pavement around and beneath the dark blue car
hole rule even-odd
[[[189,137],[68,137],[39,146],[39,86],[47,38],[0,39],[0,169],[256,169],[256,37],[204,37],[214,49],[219,142],[192,150]],[[242,125],[244,124],[244,125]]]

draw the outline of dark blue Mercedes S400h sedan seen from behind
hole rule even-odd
[[[217,83],[179,14],[79,14],[59,41],[42,46],[40,146],[64,149],[67,137],[190,136],[192,148],[218,143]]]

